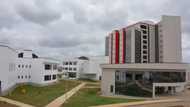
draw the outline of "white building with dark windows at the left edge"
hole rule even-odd
[[[0,93],[6,94],[19,83],[47,85],[57,81],[59,61],[38,57],[31,50],[15,50],[0,45]]]

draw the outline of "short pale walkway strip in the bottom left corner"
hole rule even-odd
[[[10,103],[10,104],[16,105],[18,107],[34,107],[32,105],[25,104],[25,103],[15,101],[15,100],[11,100],[11,99],[8,99],[8,98],[5,98],[5,97],[0,97],[0,101],[7,102],[7,103]]]

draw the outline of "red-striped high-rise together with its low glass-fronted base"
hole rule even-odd
[[[104,95],[125,95],[129,82],[153,97],[184,89],[187,64],[182,63],[179,16],[164,15],[158,23],[138,22],[114,30],[106,38],[109,64],[102,65]]]

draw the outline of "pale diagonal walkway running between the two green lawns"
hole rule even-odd
[[[69,92],[65,93],[64,95],[58,97],[57,99],[50,102],[46,107],[60,107],[67,99],[69,99],[72,95],[74,95],[79,89],[85,86],[85,82],[81,83],[80,85],[76,86]]]

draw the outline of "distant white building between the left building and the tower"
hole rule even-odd
[[[69,79],[101,79],[100,64],[108,63],[108,56],[63,59],[64,77]]]

